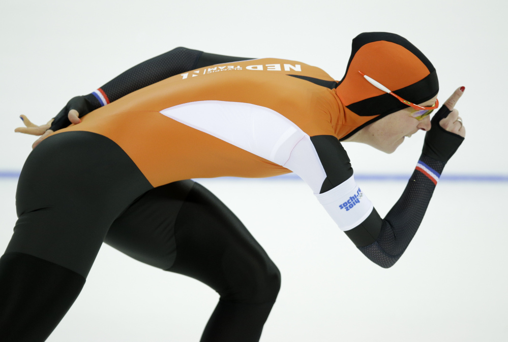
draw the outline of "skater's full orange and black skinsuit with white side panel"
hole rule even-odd
[[[340,82],[297,61],[178,48],[71,100],[90,113],[41,143],[19,179],[19,219],[0,259],[0,339],[45,340],[106,242],[221,295],[202,341],[259,340],[279,270],[234,214],[190,178],[295,172],[358,249],[392,266],[461,139],[430,136],[382,219],[354,182],[340,140],[405,105],[358,68],[415,103],[437,94],[435,70],[419,50],[391,33],[364,33],[353,40]],[[68,125],[68,109],[54,130]]]

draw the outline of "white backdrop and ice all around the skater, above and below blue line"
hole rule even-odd
[[[508,175],[508,49],[501,1],[0,2],[0,172],[19,171],[43,123],[73,96],[177,46],[317,65],[337,80],[351,39],[400,34],[439,75],[441,102],[459,86],[467,139],[446,174]],[[345,144],[357,174],[409,176],[416,134],[392,155]],[[50,180],[48,180],[50,181]],[[506,183],[442,182],[421,230],[391,269],[368,261],[299,181],[203,183],[244,221],[282,272],[262,341],[504,341]],[[15,180],[0,180],[0,250],[16,216]],[[362,184],[381,215],[404,182]],[[197,341],[217,295],[191,279],[104,246],[80,297],[49,341]]]

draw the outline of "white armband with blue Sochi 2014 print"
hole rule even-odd
[[[354,176],[332,190],[315,195],[343,231],[361,224],[374,209],[372,202],[356,185]]]

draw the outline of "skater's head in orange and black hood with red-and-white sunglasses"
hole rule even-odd
[[[439,84],[432,63],[405,38],[368,32],[353,39],[336,91],[349,128],[342,140],[358,141],[368,133],[369,142],[362,142],[391,153],[404,136],[430,129]]]

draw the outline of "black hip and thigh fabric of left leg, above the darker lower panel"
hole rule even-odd
[[[111,223],[150,189],[136,164],[105,136],[54,134],[23,165],[18,220],[6,253],[33,255],[86,278]]]

